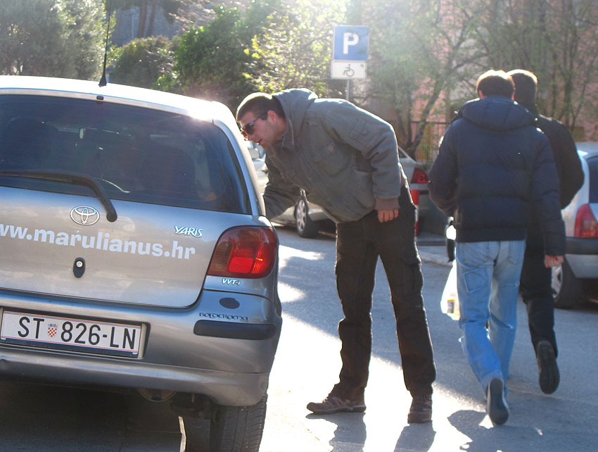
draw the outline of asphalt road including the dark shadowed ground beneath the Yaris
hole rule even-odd
[[[378,268],[372,308],[373,355],[364,414],[314,416],[305,408],[338,380],[334,241],[300,239],[280,228],[279,293],[284,325],[269,387],[261,452],[567,452],[598,450],[598,308],[556,311],[561,386],[552,395],[537,386],[537,365],[523,303],[511,361],[511,416],[492,427],[483,393],[459,345],[459,329],[440,312],[450,270],[442,246],[426,246],[424,299],[438,378],[433,422],[408,425],[405,390],[388,286]],[[434,263],[436,262],[436,263]],[[180,452],[186,437],[167,404],[104,391],[0,384],[0,451]]]

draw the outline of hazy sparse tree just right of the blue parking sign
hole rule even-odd
[[[480,56],[471,40],[475,16],[460,11],[464,1],[353,1],[370,26],[366,96],[392,112],[397,139],[412,156],[430,115],[447,108],[439,107],[443,95],[471,77],[469,63]]]

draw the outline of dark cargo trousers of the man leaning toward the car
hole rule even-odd
[[[345,318],[338,324],[343,368],[331,394],[363,398],[371,355],[371,294],[380,256],[397,321],[405,386],[413,396],[432,393],[435,366],[414,241],[415,208],[405,187],[398,218],[379,222],[376,211],[337,225],[336,287]]]

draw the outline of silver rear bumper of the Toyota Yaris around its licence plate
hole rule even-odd
[[[231,298],[238,303],[234,310],[220,303]],[[215,290],[204,290],[187,308],[1,292],[0,310],[4,309],[141,323],[146,334],[136,358],[0,340],[0,376],[189,392],[231,406],[255,405],[265,394],[281,329],[281,316],[272,301]]]

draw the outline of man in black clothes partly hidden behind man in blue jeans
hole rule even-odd
[[[548,137],[556,171],[559,173],[561,209],[565,208],[583,184],[583,170],[575,141],[559,121],[537,112],[536,76],[522,69],[511,70],[508,74],[515,83],[515,101],[535,116],[537,127]],[[558,352],[554,334],[551,276],[551,270],[544,265],[544,242],[540,226],[532,221],[528,229],[519,291],[528,310],[528,325],[537,359],[540,389],[546,394],[556,391],[560,379],[559,367],[556,365]]]

